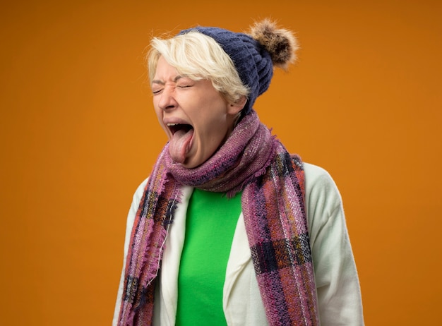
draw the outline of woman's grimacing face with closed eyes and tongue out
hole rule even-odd
[[[210,80],[179,75],[162,56],[152,91],[155,113],[169,138],[169,153],[189,169],[205,162],[225,142],[244,107],[243,102],[227,102]]]

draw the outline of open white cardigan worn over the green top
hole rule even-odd
[[[321,325],[364,325],[362,298],[356,265],[345,225],[342,200],[330,174],[321,167],[304,163],[306,212],[311,255],[315,271]],[[112,325],[117,325],[124,286],[124,266],[131,229],[147,179],[133,195],[126,225],[124,265]],[[165,243],[160,286],[156,288],[153,325],[174,325],[177,313],[177,279],[184,243],[186,211],[193,188],[184,187]],[[239,216],[227,262],[223,309],[229,326],[266,326],[244,226]]]

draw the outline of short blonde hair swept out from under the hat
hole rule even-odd
[[[148,52],[150,83],[163,56],[178,73],[193,80],[208,79],[230,103],[248,97],[249,87],[239,78],[232,59],[212,37],[196,30],[169,39],[154,37]]]

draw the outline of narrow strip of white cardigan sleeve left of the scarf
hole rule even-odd
[[[127,252],[129,250],[129,242],[131,241],[131,232],[133,227],[133,221],[135,221],[135,215],[138,210],[138,205],[140,205],[141,198],[143,197],[143,192],[146,183],[148,183],[148,179],[145,179],[143,183],[141,183],[140,186],[138,186],[137,190],[133,194],[133,200],[131,208],[129,209],[129,214],[127,215],[127,221],[126,221],[126,236],[124,239],[124,256],[123,256],[123,270],[121,271],[121,277],[120,282],[118,286],[118,292],[117,292],[117,302],[115,304],[114,309],[114,318],[112,320],[112,326],[116,326],[118,324],[118,318],[121,308],[121,298],[123,296],[123,288],[124,288],[124,274],[125,274],[125,268],[126,268],[126,257]]]

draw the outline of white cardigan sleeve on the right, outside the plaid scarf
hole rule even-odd
[[[304,164],[306,210],[321,325],[364,325],[342,200],[330,174]]]

